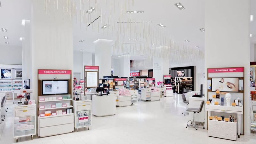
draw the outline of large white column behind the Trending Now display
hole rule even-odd
[[[250,133],[250,0],[207,0],[204,3],[205,100],[207,68],[244,67],[244,134],[247,135]]]

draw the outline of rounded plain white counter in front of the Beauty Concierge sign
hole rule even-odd
[[[95,116],[111,116],[116,114],[116,96],[92,95],[92,114]]]

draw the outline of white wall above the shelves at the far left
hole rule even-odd
[[[0,45],[0,64],[21,65],[21,46]]]

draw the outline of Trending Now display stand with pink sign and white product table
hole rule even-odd
[[[223,72],[225,70],[225,73]],[[237,133],[238,138],[240,135],[244,134],[244,106],[237,106],[236,103],[233,103],[234,106],[227,105],[225,95],[224,102],[221,104],[221,89],[220,96],[217,96],[215,89],[216,85],[219,87],[219,83],[215,84],[216,78],[219,80],[220,78],[228,79],[228,76],[231,79],[239,80],[239,90],[237,92],[228,92],[231,94],[230,103],[232,104],[234,100],[240,99],[242,102],[244,101],[244,67],[236,67],[236,68],[208,68],[208,81],[207,81],[207,89],[208,89],[208,98],[211,99],[212,102],[207,101],[205,105],[205,110],[208,111],[208,136],[223,138],[228,140],[236,140]],[[213,81],[214,80],[214,81]],[[228,81],[228,80],[226,80]],[[235,82],[234,82],[235,83]],[[211,88],[210,89],[210,84]],[[238,84],[236,85],[238,86]],[[224,92],[224,91],[223,91]],[[215,95],[216,94],[216,95]],[[221,104],[221,105],[220,105]],[[215,120],[214,117],[218,117],[218,120]],[[222,120],[220,116],[224,116],[225,120]],[[234,116],[234,119],[232,118]],[[231,118],[230,118],[231,117]]]

